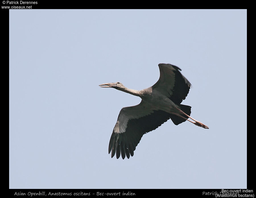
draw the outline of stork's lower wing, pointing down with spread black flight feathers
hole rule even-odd
[[[110,138],[108,153],[116,158],[129,159],[133,156],[136,146],[143,134],[150,132],[170,119],[170,114],[165,111],[153,109],[145,102],[132,107],[122,108]],[[185,120],[184,120],[185,121]]]

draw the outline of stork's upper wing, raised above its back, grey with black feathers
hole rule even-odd
[[[180,104],[185,100],[191,84],[179,72],[180,68],[171,64],[159,64],[159,80],[152,86],[152,89],[160,91],[175,104]]]

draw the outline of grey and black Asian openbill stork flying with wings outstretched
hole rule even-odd
[[[203,123],[190,117],[191,106],[181,104],[185,100],[191,84],[180,73],[181,69],[171,64],[159,64],[159,80],[152,87],[140,91],[128,89],[122,83],[106,83],[100,87],[112,87],[117,90],[139,96],[141,103],[121,109],[113,129],[108,153],[111,157],[133,156],[141,137],[161,126],[168,119],[175,125],[186,120],[205,129]],[[193,121],[189,120],[192,119]]]

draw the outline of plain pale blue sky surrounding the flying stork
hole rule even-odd
[[[182,104],[134,156],[111,158],[119,111],[182,69]],[[246,188],[247,10],[10,10],[9,188]]]

